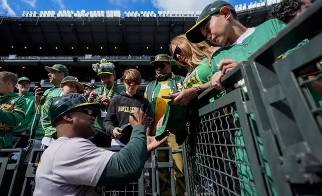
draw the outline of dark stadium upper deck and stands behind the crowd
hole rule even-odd
[[[239,21],[256,26],[268,19],[275,0],[236,5]],[[99,79],[91,64],[102,57],[115,64],[117,78],[126,68],[136,68],[145,82],[153,80],[151,58],[158,53],[170,53],[170,40],[195,24],[196,12],[124,12],[124,16],[107,15],[108,11],[86,12],[23,12],[21,17],[0,17],[0,70],[28,76],[32,81],[46,78],[44,66],[65,64],[70,75],[80,81]],[[147,15],[149,13],[150,15]],[[83,16],[82,16],[83,14]],[[173,72],[185,75],[185,70],[173,66]],[[50,84],[44,83],[44,86]]]

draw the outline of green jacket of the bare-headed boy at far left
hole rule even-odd
[[[15,129],[25,117],[26,107],[24,98],[16,92],[0,96],[0,131]]]

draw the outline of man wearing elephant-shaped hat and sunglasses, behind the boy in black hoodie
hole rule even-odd
[[[99,102],[100,113],[95,120],[95,129],[97,133],[91,141],[98,147],[109,147],[110,136],[106,134],[106,130],[103,125],[103,119],[106,116],[108,104],[110,100],[125,90],[124,86],[117,85],[115,78],[116,73],[114,70],[114,64],[107,62],[105,58],[100,60],[100,63],[92,64],[92,69],[97,73],[103,86],[95,88],[90,92],[88,101]]]

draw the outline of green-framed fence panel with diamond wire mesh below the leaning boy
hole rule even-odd
[[[243,77],[241,69],[239,64],[221,79],[224,87]],[[204,105],[215,93],[210,87],[198,97],[197,121],[188,123],[187,193],[275,195],[250,100],[238,88]]]

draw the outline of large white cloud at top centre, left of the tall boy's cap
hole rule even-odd
[[[202,10],[213,0],[151,0],[154,7],[159,10]]]

